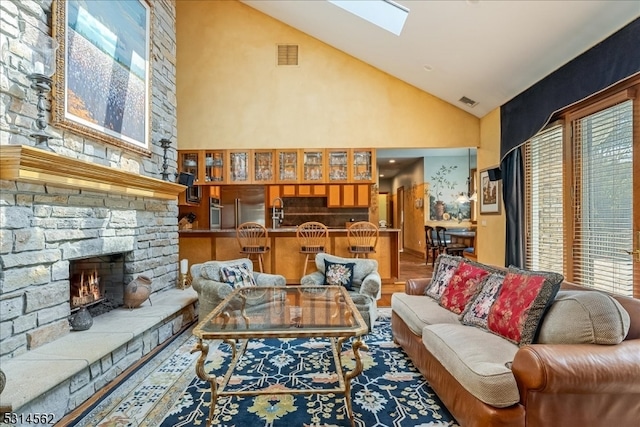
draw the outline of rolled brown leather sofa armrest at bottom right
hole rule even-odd
[[[635,394],[637,399],[640,340],[617,345],[534,344],[518,350],[512,370],[521,402],[536,393],[554,398],[559,394],[592,394],[596,399],[606,394]]]

